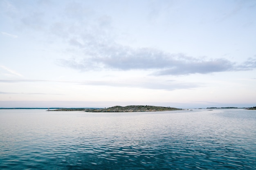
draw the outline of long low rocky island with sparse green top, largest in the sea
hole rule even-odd
[[[156,112],[183,110],[180,108],[162,107],[162,106],[113,106],[110,108],[60,108],[49,111],[85,111],[85,112]]]

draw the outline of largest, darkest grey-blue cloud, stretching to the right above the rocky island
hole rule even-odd
[[[73,40],[73,45],[81,48],[82,43]],[[91,44],[92,46],[92,44]],[[92,51],[85,51],[84,57],[69,60],[60,60],[61,66],[89,71],[94,69],[116,70],[150,70],[153,75],[188,75],[207,74],[223,71],[240,71],[255,68],[255,63],[245,62],[240,65],[224,58],[209,59],[195,58],[185,54],[164,53],[157,49],[132,49],[127,46],[115,44],[106,46],[95,44]]]

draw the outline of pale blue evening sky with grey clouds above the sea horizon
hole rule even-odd
[[[0,0],[0,107],[256,106],[255,0]]]

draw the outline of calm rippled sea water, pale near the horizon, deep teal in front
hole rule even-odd
[[[0,170],[255,170],[256,110],[0,110]]]

